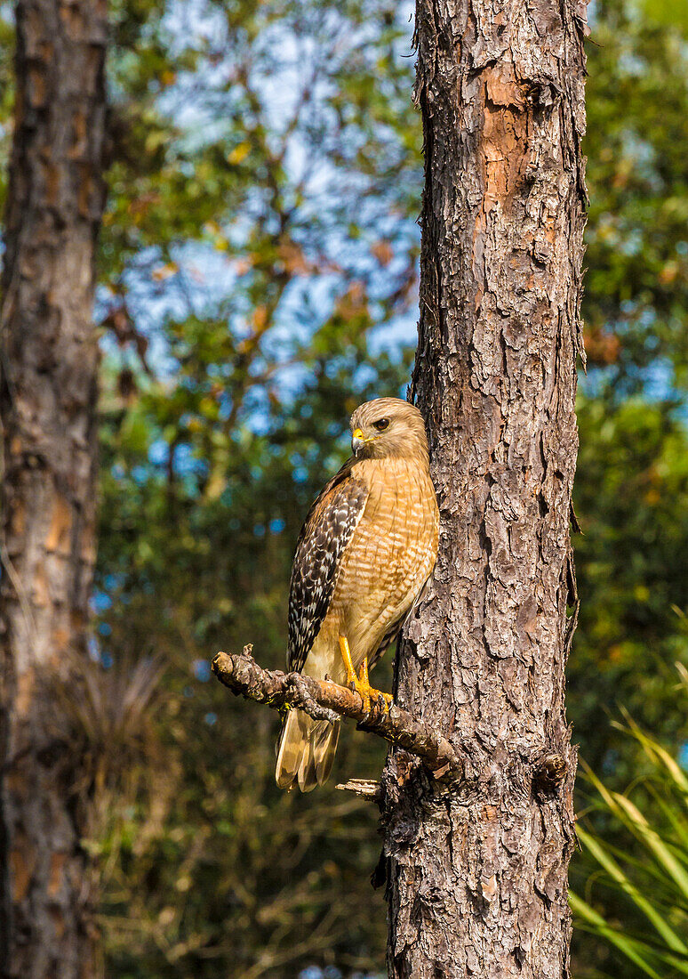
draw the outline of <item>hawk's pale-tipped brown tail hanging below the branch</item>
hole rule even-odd
[[[292,709],[286,716],[278,747],[275,778],[280,789],[298,782],[302,792],[323,785],[329,777],[339,740],[339,723],[314,721]]]

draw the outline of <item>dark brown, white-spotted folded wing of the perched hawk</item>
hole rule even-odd
[[[323,625],[339,564],[366,509],[368,488],[344,463],[308,512],[296,542],[289,583],[289,670],[301,671]]]

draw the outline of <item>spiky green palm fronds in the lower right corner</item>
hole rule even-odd
[[[685,708],[688,673],[681,667],[679,675],[677,699]],[[678,979],[688,975],[688,777],[629,715],[617,727],[635,741],[648,773],[616,792],[584,766],[591,793],[588,815],[578,826],[586,857],[577,872],[584,897],[574,891],[571,904],[579,928],[611,946],[611,958],[604,946],[599,958],[609,959],[603,967],[615,969],[612,974],[619,974],[625,957],[639,975]],[[614,843],[609,829],[600,834],[596,828],[605,822],[617,830]]]

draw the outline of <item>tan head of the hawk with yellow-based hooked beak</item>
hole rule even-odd
[[[376,397],[351,416],[351,445],[358,459],[414,458],[427,462],[423,416],[399,397]]]

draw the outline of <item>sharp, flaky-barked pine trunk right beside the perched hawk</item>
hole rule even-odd
[[[569,975],[584,32],[576,0],[417,0],[411,394],[442,523],[398,698],[462,750],[466,777],[438,791],[400,752],[385,771],[395,979]]]

